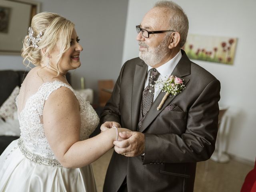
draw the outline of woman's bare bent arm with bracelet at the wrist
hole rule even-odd
[[[116,140],[116,130],[111,128],[93,138],[80,141],[79,108],[74,93],[66,87],[52,92],[44,104],[46,138],[56,158],[66,168],[78,168],[94,162],[110,150]]]

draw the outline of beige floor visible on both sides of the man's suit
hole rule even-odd
[[[102,192],[112,152],[110,150],[92,164],[98,192]],[[197,164],[194,192],[240,192],[246,174],[253,169],[253,166],[234,160],[226,164],[209,160],[206,170],[205,163]]]

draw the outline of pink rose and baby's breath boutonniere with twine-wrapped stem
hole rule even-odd
[[[167,80],[158,79],[156,83],[161,84],[163,86],[162,92],[165,92],[164,97],[162,98],[162,101],[157,107],[157,110],[160,110],[166,101],[167,97],[172,95],[178,95],[182,92],[183,89],[185,89],[185,85],[183,84],[183,81],[181,78],[178,78],[176,76],[171,75],[168,77]]]

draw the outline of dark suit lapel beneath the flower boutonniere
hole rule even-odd
[[[191,61],[186,56],[186,53],[183,50],[181,50],[181,51],[182,51],[182,58],[180,59],[180,61],[176,65],[176,67],[174,68],[172,75],[182,78],[183,76],[187,76],[190,74]],[[182,78],[182,79],[184,79],[185,85],[189,81],[188,78]],[[180,93],[180,94],[182,94],[182,93]],[[146,115],[146,117],[142,123],[140,132],[143,132],[151,124],[151,122],[154,121],[154,119],[160,114],[160,112],[162,112],[162,110],[164,110],[164,108],[166,106],[168,106],[170,104],[170,102],[172,102],[172,100],[174,100],[174,98],[179,96],[179,95],[172,96],[172,97],[169,96],[166,99],[166,101],[164,102],[162,108],[160,110],[157,110],[156,108],[160,104],[164,95],[165,95],[165,92],[160,92],[160,94],[157,96],[156,100],[152,103],[152,106],[151,106],[150,110],[148,111],[148,114]]]

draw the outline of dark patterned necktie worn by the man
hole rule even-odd
[[[148,78],[148,86],[143,90],[142,92],[142,102],[140,104],[140,117],[139,117],[139,123],[137,130],[140,129],[142,126],[142,122],[144,121],[144,118],[146,117],[146,114],[148,113],[154,99],[154,84],[155,81],[158,79],[160,73],[155,69],[150,69],[150,74]]]

